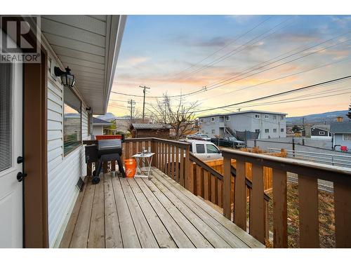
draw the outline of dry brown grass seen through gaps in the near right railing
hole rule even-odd
[[[272,194],[268,194],[272,198]],[[288,245],[299,248],[298,184],[288,183]],[[319,191],[319,243],[321,248],[335,248],[335,218],[333,194]],[[272,225],[272,200],[269,203],[269,224]],[[267,243],[268,247],[270,242]]]

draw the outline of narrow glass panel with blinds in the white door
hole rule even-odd
[[[12,166],[12,65],[0,64],[0,172]]]

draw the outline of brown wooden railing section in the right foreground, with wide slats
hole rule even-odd
[[[265,241],[265,201],[263,196],[263,168],[273,170],[273,244],[274,248],[286,248],[287,234],[287,187],[286,173],[298,174],[298,207],[300,247],[319,247],[319,214],[317,180],[333,182],[336,247],[351,247],[351,169],[336,168],[307,161],[296,161],[263,154],[223,149],[223,214],[231,218],[231,160],[237,161],[234,190],[234,223],[246,231],[246,163],[252,166],[252,192],[249,198],[250,234]]]

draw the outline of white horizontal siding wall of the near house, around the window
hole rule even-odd
[[[51,72],[58,62],[48,48]],[[58,245],[79,191],[79,177],[86,175],[84,146],[63,156],[63,89],[60,80],[48,71],[48,234],[49,245]],[[81,104],[81,137],[88,138],[86,104]]]

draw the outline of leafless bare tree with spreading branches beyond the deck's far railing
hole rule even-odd
[[[194,110],[197,106],[199,106],[198,102],[190,102],[188,106],[185,106],[183,96],[180,96],[177,102],[176,100],[171,101],[171,97],[164,94],[156,104],[151,104],[152,110],[149,109],[149,115],[153,122],[171,126],[176,133],[176,139],[179,139],[195,129]]]

